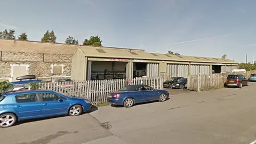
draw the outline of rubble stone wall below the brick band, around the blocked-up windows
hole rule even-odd
[[[1,52],[0,78],[12,76],[12,65],[28,65],[27,74],[37,77],[70,76],[72,54]],[[53,75],[53,66],[63,66],[61,75]]]

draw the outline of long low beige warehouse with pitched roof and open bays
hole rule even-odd
[[[187,77],[231,72],[238,63],[229,59],[147,53],[136,49],[79,47],[72,57],[71,77],[78,81],[134,77]]]

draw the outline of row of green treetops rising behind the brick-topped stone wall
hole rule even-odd
[[[15,30],[14,29],[5,29],[0,31],[0,38],[2,39],[16,39]],[[28,41],[28,35],[26,33],[22,33],[18,36],[19,40]],[[53,30],[47,30],[43,37],[41,38],[41,42],[45,43],[56,43],[57,37]],[[68,36],[65,41],[66,44],[78,45],[78,39],[73,36]],[[94,45],[94,46],[102,46],[102,41],[99,36],[91,36],[89,39],[84,39],[83,45]]]

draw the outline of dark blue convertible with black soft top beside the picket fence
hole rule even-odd
[[[132,107],[135,103],[148,101],[165,101],[169,98],[166,90],[155,90],[148,85],[128,85],[117,92],[109,93],[107,101],[110,104]]]

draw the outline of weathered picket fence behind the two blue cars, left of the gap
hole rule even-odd
[[[40,84],[41,90],[53,90],[65,95],[86,98],[94,104],[106,101],[110,92],[117,91],[126,85],[147,84],[154,89],[163,89],[162,77],[134,78],[134,79],[105,79],[99,81],[83,82],[44,82]]]

